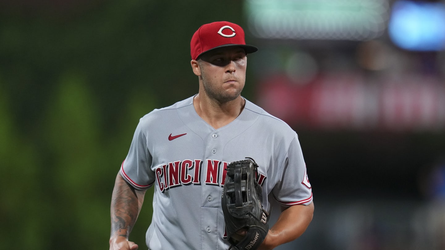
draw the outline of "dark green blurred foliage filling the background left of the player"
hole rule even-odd
[[[107,249],[138,119],[198,91],[190,38],[241,1],[0,4],[0,249]],[[152,190],[130,240],[141,249]]]

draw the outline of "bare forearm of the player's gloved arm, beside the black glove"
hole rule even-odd
[[[314,202],[311,204],[283,207],[277,222],[269,229],[269,233],[259,250],[269,250],[281,244],[291,242],[306,231],[314,214]]]

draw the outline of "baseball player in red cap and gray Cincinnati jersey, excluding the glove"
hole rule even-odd
[[[241,96],[247,54],[257,48],[239,25],[221,21],[202,25],[190,50],[198,94],[140,119],[115,181],[110,250],[138,249],[128,238],[149,188],[150,250],[227,250],[221,194],[227,165],[244,157],[259,165],[264,210],[272,199],[282,210],[259,249],[298,238],[314,210],[298,136]]]

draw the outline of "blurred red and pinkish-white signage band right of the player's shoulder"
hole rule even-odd
[[[297,85],[283,76],[259,84],[258,104],[290,125],[316,129],[445,130],[445,85],[428,77],[366,82],[360,75]]]

